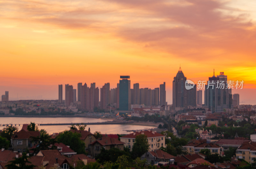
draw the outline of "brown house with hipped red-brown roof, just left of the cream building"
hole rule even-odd
[[[108,136],[103,136],[98,140],[89,144],[89,154],[94,158],[100,154],[101,148],[109,150],[111,148],[118,148],[119,150],[124,150],[124,142],[119,141],[116,138],[110,138]]]

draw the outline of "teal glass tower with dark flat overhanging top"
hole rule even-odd
[[[119,110],[131,109],[131,81],[130,76],[120,76],[119,80]]]

